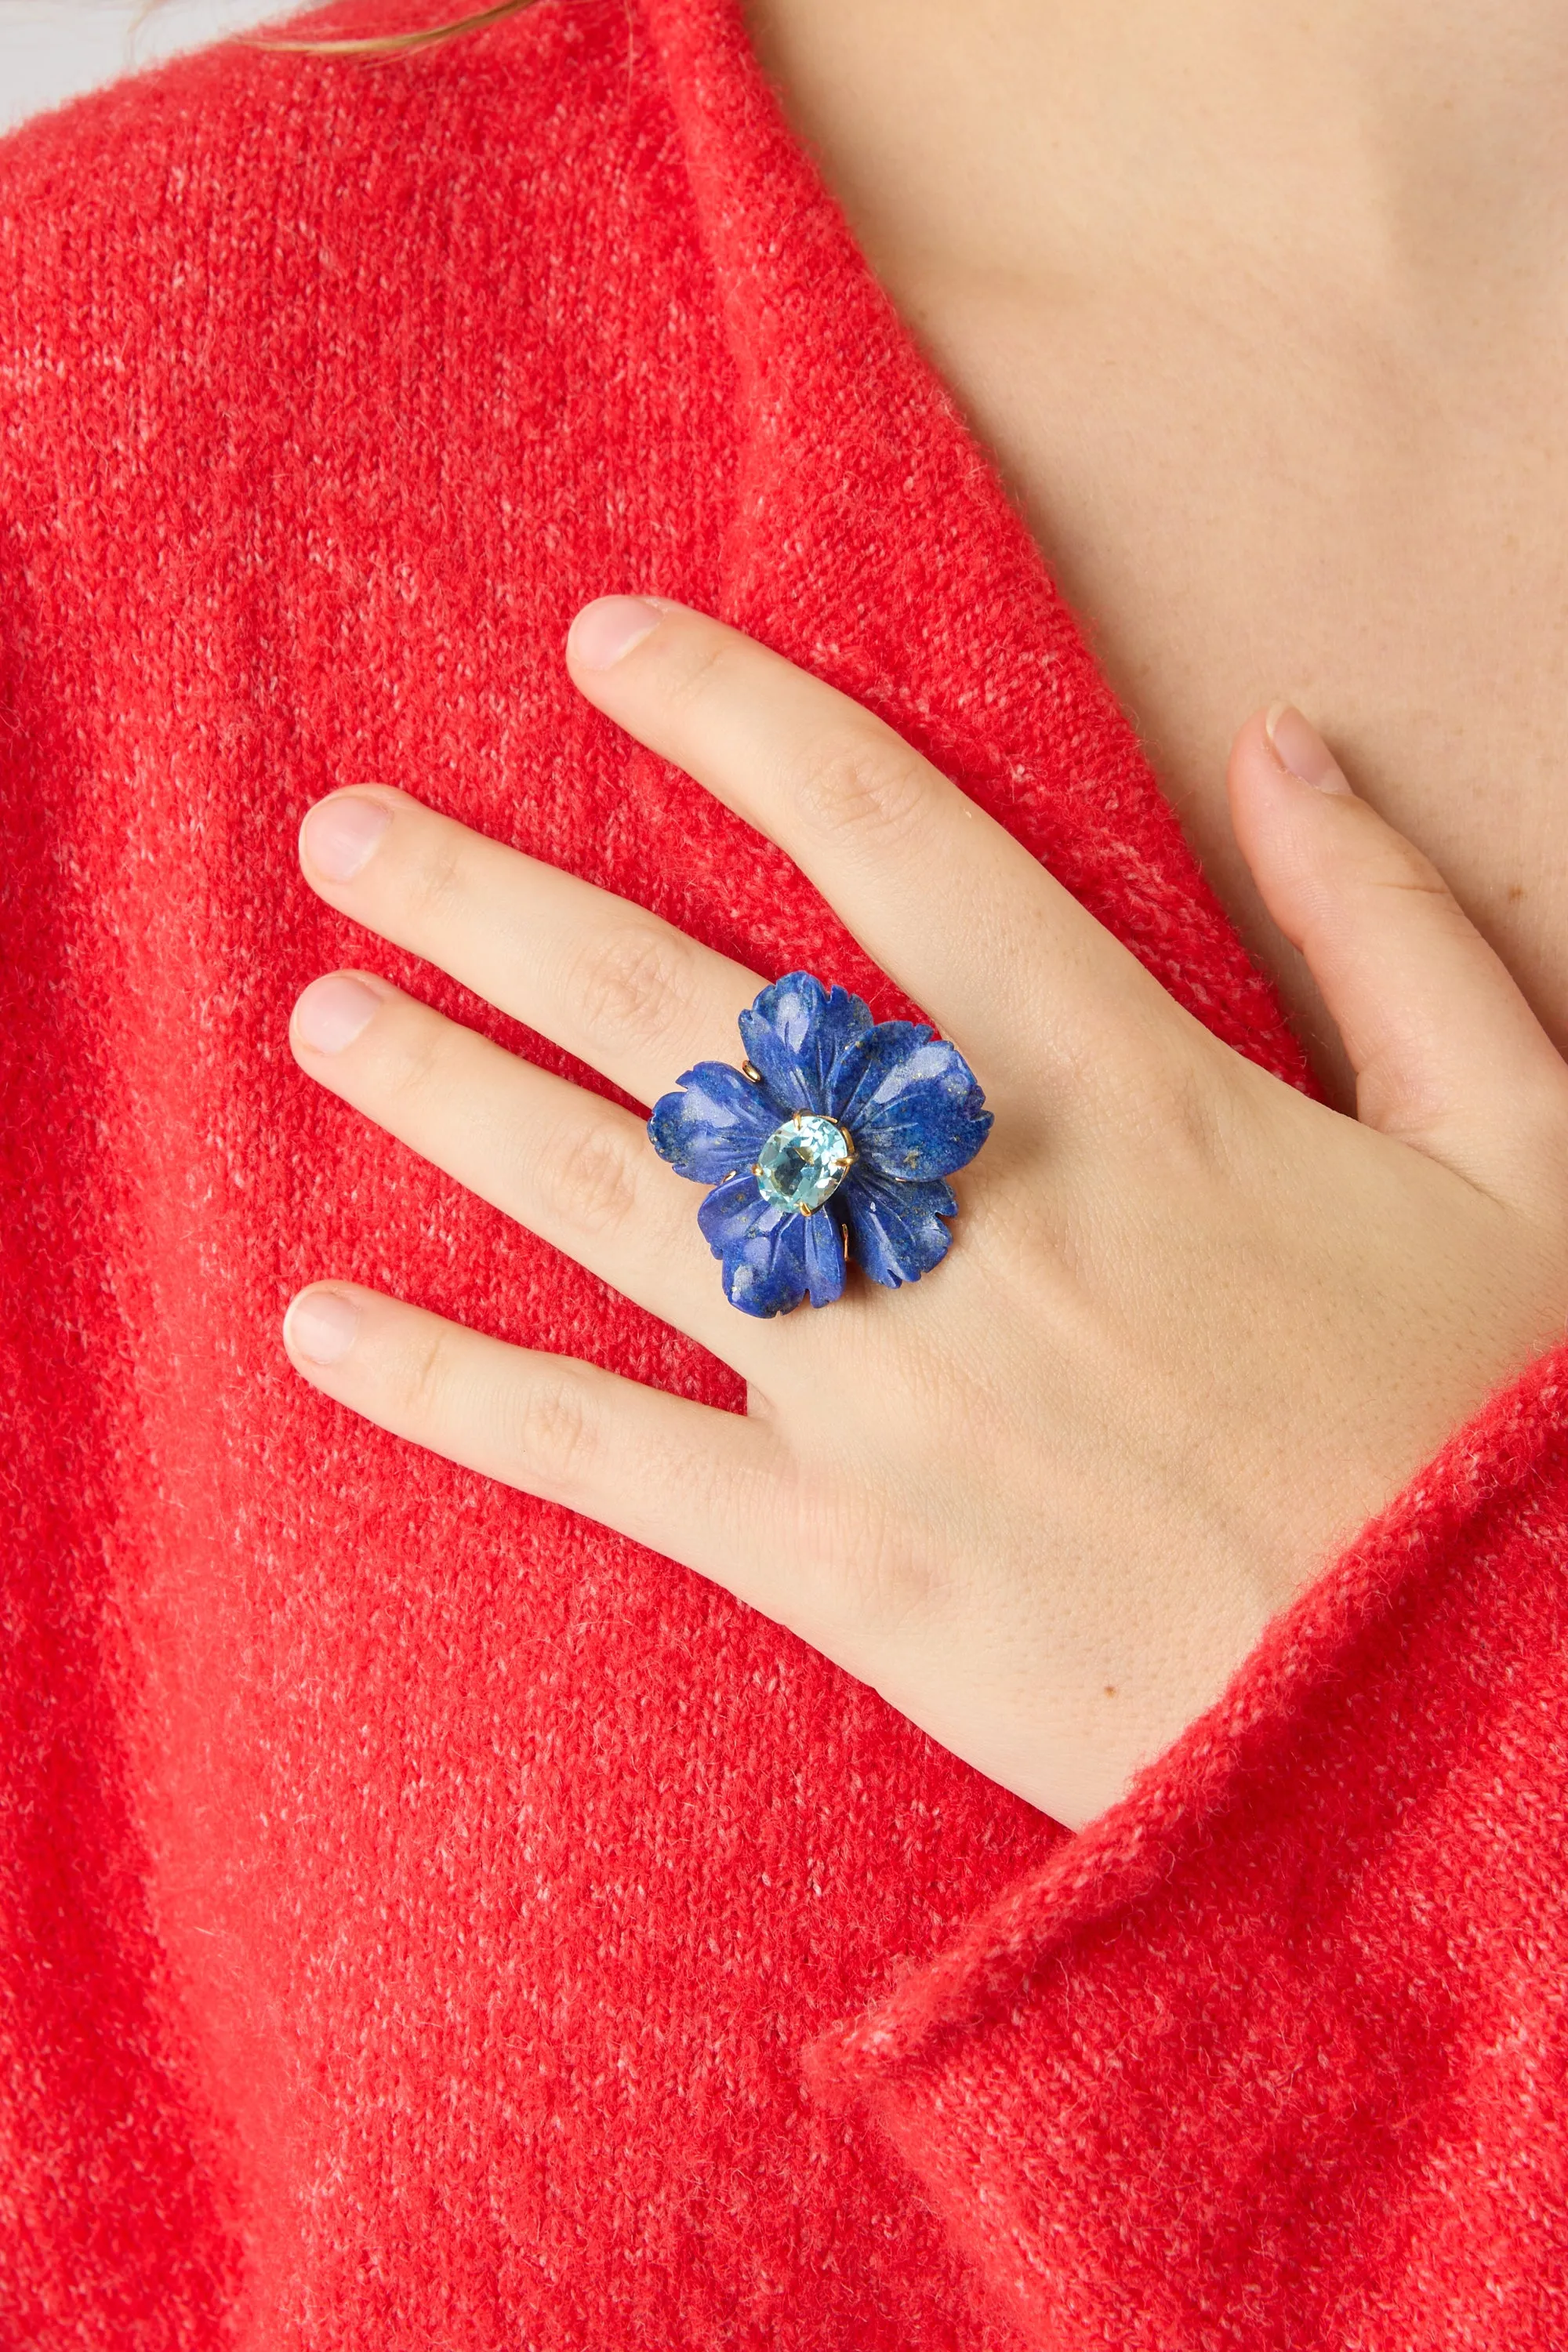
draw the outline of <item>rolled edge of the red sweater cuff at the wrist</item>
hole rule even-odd
[[[877,2105],[912,2067],[1004,2006],[1074,1936],[1192,1865],[1215,1816],[1241,1804],[1302,1708],[1328,1689],[1347,1651],[1410,1595],[1455,1536],[1500,1503],[1519,1503],[1568,1456],[1568,1345],[1502,1388],[1356,1541],[1265,1630],[1225,1693],[1145,1766],[1126,1797],[969,1922],[936,1959],[910,1964],[867,2011],[802,2053],[827,2107]]]

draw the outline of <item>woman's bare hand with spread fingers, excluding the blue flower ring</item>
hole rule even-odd
[[[701,1195],[632,1112],[334,974],[294,1009],[301,1068],[698,1338],[750,1409],[341,1282],[292,1303],[292,1359],[717,1578],[1079,1825],[1561,1336],[1568,1070],[1298,713],[1274,743],[1241,729],[1232,809],[1359,1120],[1222,1047],[898,736],[748,637],[607,597],[569,666],[771,835],[973,1063],[994,1129],[954,1247],[903,1291],[851,1277],[830,1310],[738,1315]],[[642,1103],[738,1061],[736,1014],[773,978],[390,788],[320,802],[301,856],[331,906]]]

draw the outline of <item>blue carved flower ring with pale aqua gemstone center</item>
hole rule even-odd
[[[917,1021],[785,971],[741,1014],[745,1070],[698,1061],[654,1103],[649,1136],[693,1183],[696,1218],[745,1315],[830,1305],[856,1258],[872,1282],[919,1282],[947,1254],[947,1176],[992,1115],[957,1047]]]

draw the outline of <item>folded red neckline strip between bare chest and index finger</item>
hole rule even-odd
[[[639,0],[738,372],[724,619],[875,708],[1215,1035],[1316,1091],[1001,475],[860,252],[741,0]]]

